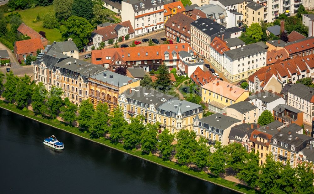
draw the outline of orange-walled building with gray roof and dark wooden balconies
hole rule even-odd
[[[281,123],[303,125],[303,112],[287,104],[278,104],[273,108],[274,120]]]

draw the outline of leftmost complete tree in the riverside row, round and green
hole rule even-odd
[[[5,100],[9,103],[12,103],[12,101],[15,99],[18,83],[19,78],[18,76],[15,76],[12,71],[6,74],[6,82],[4,84],[5,90],[2,93],[2,97],[4,97]]]

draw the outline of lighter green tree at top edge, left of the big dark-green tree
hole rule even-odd
[[[72,13],[73,0],[54,0],[53,8],[58,21],[67,21]]]

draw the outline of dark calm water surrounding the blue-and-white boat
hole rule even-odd
[[[42,143],[53,134],[64,150]],[[2,194],[236,193],[1,108],[0,177]]]

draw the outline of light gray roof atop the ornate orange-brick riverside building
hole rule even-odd
[[[95,76],[90,76],[91,78],[94,78],[96,80],[101,80],[103,82],[108,82],[114,86],[125,86],[129,83],[133,83],[135,81],[138,81],[137,79],[133,79],[127,76],[120,75],[118,73],[106,70],[100,74],[97,74]],[[129,82],[131,80],[131,82]]]

